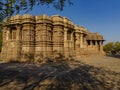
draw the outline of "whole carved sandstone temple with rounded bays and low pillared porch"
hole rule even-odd
[[[29,14],[5,19],[3,26],[2,60],[22,60],[26,53],[51,56],[59,52],[67,56],[103,53],[103,36],[73,24],[59,15]]]

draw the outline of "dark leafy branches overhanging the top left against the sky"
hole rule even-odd
[[[0,21],[20,11],[28,12],[35,5],[53,5],[57,10],[63,10],[66,2],[72,4],[71,0],[0,0]]]

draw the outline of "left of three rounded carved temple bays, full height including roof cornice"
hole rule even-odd
[[[29,14],[22,16],[22,55],[35,53],[35,17]],[[27,60],[27,59],[25,59]]]

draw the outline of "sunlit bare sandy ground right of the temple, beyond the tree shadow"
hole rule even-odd
[[[104,69],[120,72],[120,58],[110,56],[89,56],[81,58],[80,61],[95,67],[102,67]]]

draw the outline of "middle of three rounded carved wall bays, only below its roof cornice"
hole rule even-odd
[[[46,23],[36,25],[36,54],[52,54],[52,26]]]

